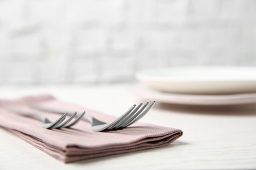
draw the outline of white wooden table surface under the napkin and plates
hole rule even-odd
[[[51,93],[119,116],[140,99],[133,84],[1,87],[0,97]],[[170,146],[64,164],[0,128],[0,169],[256,169],[256,104],[188,107],[158,103],[142,120],[184,131]]]

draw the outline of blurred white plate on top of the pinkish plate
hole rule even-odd
[[[141,71],[136,77],[149,88],[161,92],[256,92],[256,67],[171,67]]]

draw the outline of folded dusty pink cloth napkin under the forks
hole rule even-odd
[[[58,101],[51,95],[0,100],[1,127],[65,163],[158,148],[172,143],[182,135],[180,129],[140,122],[117,131],[94,132],[91,130],[91,123],[85,119],[70,128],[49,130],[41,127],[42,122],[39,120],[20,116],[8,110],[9,107],[17,107],[22,110],[39,112],[45,114],[50,120],[60,117],[60,114],[33,110],[28,107],[28,104],[32,103],[54,109],[77,110],[77,113],[85,110],[106,122],[112,122],[116,118],[95,110]]]

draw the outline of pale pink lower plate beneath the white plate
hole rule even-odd
[[[240,93],[226,95],[194,95],[165,93],[135,86],[132,92],[146,101],[180,105],[244,105],[256,103],[256,93]]]

